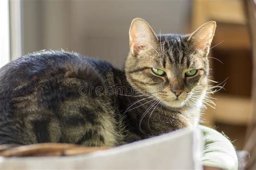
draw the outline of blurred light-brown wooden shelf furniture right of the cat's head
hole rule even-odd
[[[216,109],[208,107],[204,114],[204,124],[213,126],[218,121],[246,125],[252,119],[253,105],[250,96],[251,58],[247,55],[250,53],[251,43],[246,27],[247,19],[243,1],[194,0],[192,29],[194,30],[199,25],[211,20],[217,22],[212,46],[216,45],[213,50],[218,57],[212,56],[214,52],[211,52],[209,56],[225,62],[224,65],[221,65],[217,60],[210,59],[210,65],[213,67],[214,77],[218,78],[218,81],[224,80],[226,78],[224,76],[229,76],[230,79],[225,85],[227,92],[223,90],[212,96],[217,98],[214,101]],[[240,58],[233,52],[235,50],[240,50]],[[233,54],[234,56],[231,56]],[[239,79],[244,84],[239,83]]]

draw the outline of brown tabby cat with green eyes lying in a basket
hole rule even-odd
[[[75,52],[41,51],[0,69],[0,144],[114,147],[198,125],[214,21],[156,35],[133,19],[124,69]]]

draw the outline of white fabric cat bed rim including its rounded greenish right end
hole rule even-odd
[[[203,131],[203,137],[200,130]],[[224,135],[205,126],[72,157],[0,157],[1,170],[202,169],[201,164],[223,169],[238,167],[237,155],[231,142]]]

